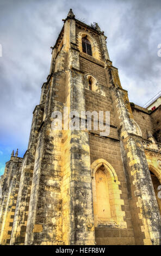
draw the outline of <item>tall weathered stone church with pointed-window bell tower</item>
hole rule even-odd
[[[84,24],[71,9],[63,22],[28,149],[11,155],[1,177],[0,244],[160,245],[160,108],[129,102],[97,23]],[[91,129],[69,129],[87,111]],[[102,135],[106,111],[110,132]],[[68,118],[55,130],[59,114]]]

